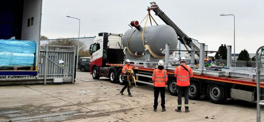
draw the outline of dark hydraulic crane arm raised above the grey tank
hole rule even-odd
[[[178,40],[185,46],[187,50],[191,48],[192,45],[195,46],[195,51],[200,51],[200,48],[197,47],[194,43],[192,43],[192,39],[188,37],[169,17],[159,9],[158,5],[155,2],[151,2],[150,6],[147,8],[148,11],[153,10],[155,15],[157,15],[163,22],[167,25],[171,26],[178,35]],[[187,46],[189,48],[187,48]],[[196,55],[200,56],[199,52],[195,52]]]

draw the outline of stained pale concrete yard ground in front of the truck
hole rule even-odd
[[[152,85],[137,84],[133,97],[120,95],[122,85],[107,78],[92,79],[89,72],[77,71],[75,84],[0,86],[0,121],[37,122],[253,122],[256,102],[232,101],[224,105],[208,100],[189,100],[190,112],[174,111],[177,97],[166,88],[166,109],[153,111]],[[184,99],[184,98],[183,98]]]

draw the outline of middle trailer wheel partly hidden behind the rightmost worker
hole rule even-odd
[[[199,85],[195,81],[190,81],[189,98],[191,100],[194,100],[194,99],[199,99],[199,97],[200,97]]]

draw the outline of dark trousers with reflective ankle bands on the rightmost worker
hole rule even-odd
[[[178,105],[182,105],[182,94],[184,95],[184,105],[189,105],[189,86],[180,87],[177,86],[178,89]],[[180,109],[181,107],[178,107]],[[189,106],[185,106],[185,108],[189,108]]]

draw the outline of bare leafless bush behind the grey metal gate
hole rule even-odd
[[[77,47],[78,47],[78,40],[77,39],[67,39],[67,38],[58,38],[55,40],[50,40],[46,44],[40,45],[40,50],[45,50],[46,45],[58,45],[58,46],[74,46],[76,48],[76,54],[77,54]],[[80,55],[82,51],[84,51],[87,48],[85,43],[83,41],[80,41],[79,43],[79,57],[88,57],[86,55],[87,53],[83,53],[83,55]],[[84,51],[86,52],[86,51]],[[89,52],[89,51],[87,51]]]

